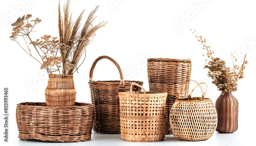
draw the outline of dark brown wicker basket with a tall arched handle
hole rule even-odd
[[[101,59],[109,59],[118,68],[119,81],[92,81],[93,70],[97,62]],[[124,81],[123,74],[118,63],[108,56],[98,57],[90,70],[90,90],[91,100],[95,106],[95,117],[93,130],[104,134],[120,134],[120,116],[119,116],[119,92],[130,91],[131,84],[135,82],[140,85],[140,81]],[[140,91],[141,88],[133,87],[134,91]]]

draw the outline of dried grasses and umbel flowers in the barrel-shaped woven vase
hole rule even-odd
[[[30,33],[34,32],[34,27],[41,22],[41,19],[36,18],[30,20],[32,17],[31,14],[24,15],[23,17],[19,17],[16,22],[11,25],[13,27],[13,32],[10,39],[17,42],[27,54],[41,64],[40,68],[45,68],[48,73],[52,74],[53,72],[58,71],[58,73],[62,75],[73,75],[86,58],[86,46],[92,42],[96,31],[99,28],[104,27],[107,23],[103,21],[98,23],[98,25],[92,25],[96,18],[94,14],[98,8],[99,6],[91,11],[82,29],[79,31],[84,10],[76,21],[73,22],[72,14],[70,14],[70,0],[67,0],[67,3],[63,7],[63,16],[61,16],[59,3],[59,40],[57,40],[57,37],[44,35],[41,39],[32,41]],[[18,38],[22,38],[25,41],[27,48],[19,43]],[[30,43],[27,43],[27,39],[29,39]],[[35,49],[35,53],[40,57],[39,59],[32,55],[30,46]],[[84,59],[78,64],[83,54]]]

